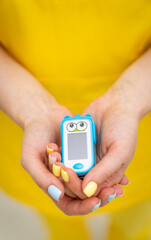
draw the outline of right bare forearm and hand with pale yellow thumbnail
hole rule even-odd
[[[98,164],[85,176],[82,188],[95,182],[91,196],[102,188],[121,182],[137,142],[138,123],[151,111],[151,49],[133,63],[104,96],[83,112],[91,114],[97,128]]]

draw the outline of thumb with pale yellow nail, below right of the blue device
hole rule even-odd
[[[125,158],[119,150],[117,150],[117,147],[111,147],[102,160],[100,160],[100,162],[97,163],[84,177],[82,190],[85,195],[91,197],[96,192],[98,186],[117,170],[121,169],[120,172],[124,173],[126,169],[125,162]]]

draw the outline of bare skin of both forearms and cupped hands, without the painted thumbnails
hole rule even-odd
[[[61,146],[60,122],[64,116],[72,116],[72,113],[66,107],[58,104],[28,71],[9,57],[2,48],[0,49],[0,108],[24,130],[21,164],[49,197],[48,186],[50,184],[61,190],[59,202],[50,198],[65,214],[88,214],[98,204],[99,199],[102,200],[101,206],[104,206],[108,196],[112,195],[115,189],[117,195],[123,193],[122,187],[116,184],[126,185],[128,183],[124,173],[135,151],[138,122],[150,111],[150,60],[151,51],[149,50],[142,61],[139,64],[138,62],[134,63],[136,67],[132,67],[126,74],[130,82],[127,84],[129,86],[127,88],[131,94],[126,96],[130,100],[129,106],[127,101],[124,101],[125,98],[121,98],[122,94],[125,94],[123,89],[127,86],[124,76],[104,96],[94,100],[85,109],[83,114],[92,114],[96,121],[98,136],[100,130],[103,134],[97,145],[99,163],[85,176],[83,181],[77,178],[74,171],[66,169],[69,171],[69,179],[74,180],[66,183],[61,177],[57,178],[52,174],[46,146],[48,143],[55,144],[53,145],[55,152],[51,154],[57,156],[57,164],[62,164],[59,153]],[[135,74],[136,69],[141,69],[143,77],[139,74],[138,78]],[[132,88],[131,82],[136,86]],[[146,88],[144,82],[147,85]],[[141,102],[138,101],[136,89],[141,91],[143,96]],[[110,100],[112,100],[112,104]],[[136,107],[137,102],[139,104]],[[133,115],[134,106],[137,111]],[[127,121],[129,121],[129,125],[127,125]],[[128,135],[131,136],[131,139],[129,138],[131,141],[129,144],[126,132],[129,127],[127,126],[130,126]],[[111,132],[112,134],[109,134]],[[117,133],[120,133],[120,136],[117,136]],[[121,139],[123,139],[122,146],[119,144]],[[122,152],[125,146],[129,151],[123,159]],[[119,153],[121,155],[118,155]],[[65,166],[62,167],[65,168]],[[83,189],[92,180],[98,184],[98,188],[92,197],[87,198]]]

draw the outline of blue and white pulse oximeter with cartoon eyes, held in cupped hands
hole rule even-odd
[[[62,162],[81,178],[95,165],[96,127],[90,114],[61,122]]]

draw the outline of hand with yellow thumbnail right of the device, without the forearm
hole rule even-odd
[[[124,173],[136,148],[139,121],[132,103],[114,97],[114,93],[96,98],[85,114],[91,114],[96,123],[97,164],[83,179],[82,189],[87,196],[101,198],[102,189],[121,184],[126,177]]]

